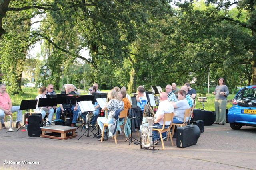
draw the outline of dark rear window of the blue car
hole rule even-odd
[[[239,106],[256,107],[256,88],[244,88],[236,96]]]

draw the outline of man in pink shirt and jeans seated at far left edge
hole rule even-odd
[[[17,123],[15,127],[20,128],[22,127],[20,125],[20,121],[22,121],[22,110],[20,110],[20,106],[12,106],[9,94],[6,93],[6,86],[4,84],[0,84],[0,121],[2,129],[6,129],[4,125],[4,116],[10,115],[14,112],[17,112]]]

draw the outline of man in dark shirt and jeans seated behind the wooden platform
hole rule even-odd
[[[75,92],[73,92],[71,90],[71,86],[69,84],[67,84],[65,86],[65,91],[61,92],[60,94],[76,94]],[[59,104],[60,107],[58,107],[58,109],[56,109],[56,119],[60,119],[60,113],[64,113],[64,110],[67,111],[72,111],[73,113],[73,120],[71,123],[72,127],[76,126],[76,119],[77,119],[77,115],[80,111],[80,109],[78,109],[78,104],[72,104],[71,106],[71,110],[70,110],[70,104]]]

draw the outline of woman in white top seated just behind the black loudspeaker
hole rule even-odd
[[[41,113],[42,114],[42,118],[44,119],[46,112],[48,112],[49,114],[49,120],[52,121],[52,116],[54,114],[54,109],[47,109],[47,107],[38,107],[38,102],[39,102],[39,98],[46,98],[46,87],[40,87],[38,90],[39,94],[36,96],[36,100],[37,104],[36,104],[36,109],[34,109],[35,113]],[[48,122],[48,120],[47,120]],[[48,125],[50,125],[50,123],[47,123]]]

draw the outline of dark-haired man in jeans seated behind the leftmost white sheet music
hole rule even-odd
[[[96,87],[95,86],[90,86],[89,87],[89,93],[90,93],[89,95],[92,95],[92,93],[94,93],[94,92],[96,92]],[[93,116],[92,116],[92,128],[95,127],[95,123],[96,123],[98,115],[100,113],[100,105],[98,104],[98,102],[95,102],[95,104],[93,106],[94,106],[94,109],[96,111],[92,112],[92,114],[93,114]],[[80,115],[84,119],[85,122],[86,122],[86,115],[87,114],[88,114],[88,112],[87,113],[82,113],[80,111]]]

